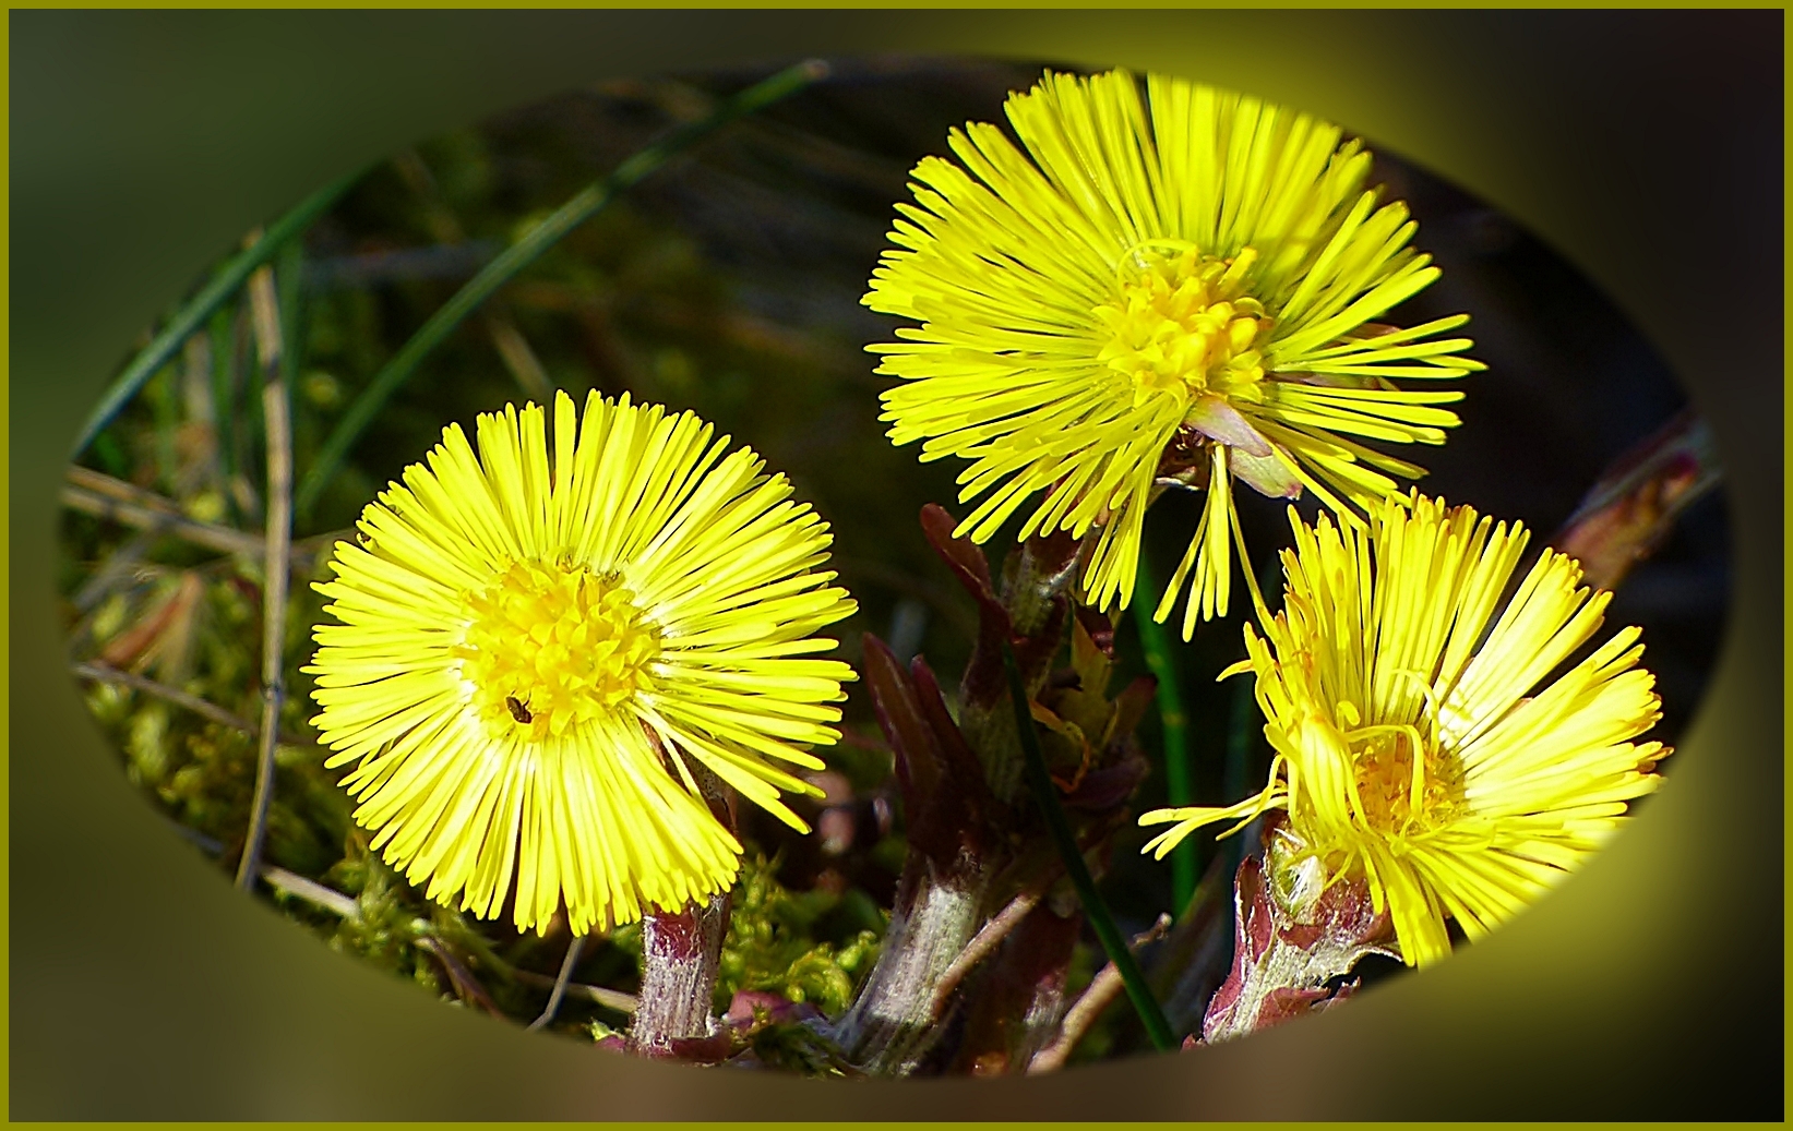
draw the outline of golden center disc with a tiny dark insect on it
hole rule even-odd
[[[455,656],[495,735],[540,740],[615,712],[660,651],[635,595],[585,566],[518,561],[466,604]]]

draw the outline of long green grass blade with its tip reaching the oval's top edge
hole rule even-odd
[[[645,179],[669,160],[690,149],[723,125],[803,90],[825,73],[827,65],[810,59],[798,63],[796,66],[789,66],[776,75],[732,95],[717,106],[712,115],[696,122],[687,122],[665,138],[629,156],[622,161],[622,165],[617,165],[610,176],[588,185],[570,201],[561,204],[554,215],[531,228],[520,240],[486,263],[479,274],[468,280],[468,283],[461,287],[454,298],[443,303],[436,314],[432,314],[429,321],[411,335],[411,341],[400,346],[398,353],[385,362],[385,366],[373,376],[373,382],[369,382],[368,387],[362,389],[360,396],[355,398],[355,403],[350,405],[348,412],[342,414],[342,419],[337,421],[335,430],[330,434],[330,439],[325,441],[323,448],[317,452],[317,459],[312,461],[310,470],[305,473],[305,480],[299,484],[299,493],[294,500],[298,513],[301,516],[310,513],[312,505],[317,502],[317,495],[330,484],[337,470],[342,466],[342,461],[348,457],[348,450],[355,445],[355,439],[369,423],[373,423],[373,418],[380,414],[387,398],[391,398],[393,393],[396,393],[400,385],[411,378],[418,364],[421,364],[423,358],[436,350],[436,346],[454,333],[455,328],[459,328],[461,323],[500,287],[516,278],[518,272],[536,262],[541,253],[558,244],[570,231],[602,212],[611,201],[617,199],[617,195],[622,194],[622,190]]]

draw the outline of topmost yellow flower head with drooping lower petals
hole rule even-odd
[[[1151,75],[1047,73],[1013,95],[1026,152],[990,124],[952,131],[959,158],[916,165],[864,303],[922,323],[871,346],[891,439],[961,455],[959,527],[984,541],[1029,496],[1020,536],[1103,532],[1092,604],[1133,595],[1140,525],[1162,480],[1207,505],[1156,609],[1185,584],[1183,636],[1225,615],[1232,479],[1269,496],[1312,489],[1341,514],[1424,471],[1359,439],[1443,443],[1454,378],[1477,362],[1467,315],[1372,324],[1438,269],[1408,247],[1404,204],[1364,192],[1370,154],[1307,115]],[[1356,522],[1356,516],[1348,518]]]

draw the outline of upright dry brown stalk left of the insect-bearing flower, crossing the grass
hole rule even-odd
[[[298,287],[298,280],[285,280]],[[249,278],[249,303],[255,312],[256,353],[262,360],[262,421],[267,437],[267,565],[262,583],[262,749],[255,764],[255,799],[249,803],[249,833],[237,862],[237,885],[255,887],[262,862],[262,837],[267,835],[267,808],[274,798],[274,738],[280,733],[280,704],[287,695],[287,552],[292,543],[292,423],[287,419],[287,382],[280,366],[280,306],[274,301],[274,272],[258,269]]]

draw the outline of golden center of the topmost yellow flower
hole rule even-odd
[[[1133,378],[1135,403],[1171,391],[1257,400],[1271,319],[1244,290],[1255,260],[1250,247],[1223,260],[1182,242],[1140,244],[1122,256],[1115,299],[1094,310],[1108,332],[1097,360]]]

